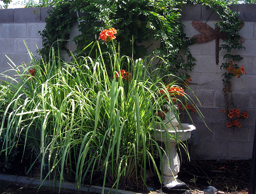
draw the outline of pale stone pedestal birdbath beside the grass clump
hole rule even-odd
[[[169,110],[169,107],[167,107]],[[174,117],[174,113],[172,110],[169,111],[170,119],[172,119],[172,124],[166,124],[166,129],[168,130],[168,134],[166,135],[165,130],[156,129],[156,137],[157,141],[162,141],[165,144],[165,153],[163,153],[163,184],[167,188],[173,188],[177,185],[182,185],[183,183],[179,180],[178,173],[180,172],[180,159],[177,153],[177,139],[178,141],[186,141],[190,135],[191,131],[195,130],[196,127],[194,125],[189,124],[181,124],[181,129],[178,130],[178,121]],[[165,123],[168,123],[165,119]],[[163,127],[162,127],[163,129]],[[161,166],[160,166],[161,168]]]

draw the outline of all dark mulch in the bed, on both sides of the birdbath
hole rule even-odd
[[[29,168],[29,163],[15,164],[10,169],[0,167],[0,173],[25,176],[26,169]],[[29,176],[38,176],[38,169],[39,166],[32,171],[36,173],[32,173]],[[193,194],[202,193],[202,190],[208,185],[212,185],[219,191],[225,193],[248,193],[250,169],[251,160],[183,161],[178,178],[193,190]],[[138,181],[138,185],[136,181],[120,182],[119,189],[147,193],[148,190],[145,187],[143,188],[143,182],[140,179]],[[99,184],[99,182],[96,184]],[[148,178],[147,184],[153,189],[154,193],[157,193],[161,188],[161,184],[153,176]]]

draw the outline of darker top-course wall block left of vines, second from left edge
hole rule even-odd
[[[14,9],[14,22],[39,22],[41,20],[39,11],[40,8]]]

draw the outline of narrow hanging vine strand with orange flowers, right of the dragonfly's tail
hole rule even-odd
[[[225,109],[223,112],[226,114],[227,127],[234,129],[235,127],[241,127],[239,119],[248,118],[246,110],[240,112],[236,105],[233,103],[232,94],[232,78],[240,78],[243,74],[246,74],[244,66],[240,67],[236,62],[243,59],[238,54],[233,54],[234,50],[243,50],[245,47],[241,44],[243,38],[239,35],[239,31],[243,27],[243,22],[238,19],[239,13],[223,10],[220,14],[221,22],[217,22],[216,25],[220,25],[223,32],[226,32],[227,39],[224,44],[220,46],[220,50],[226,51],[224,59],[226,62],[222,63],[221,69],[225,69],[226,72],[222,75],[223,79],[223,93],[225,98]]]

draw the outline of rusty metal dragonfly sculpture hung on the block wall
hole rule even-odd
[[[220,28],[217,27],[212,29],[209,27],[206,23],[203,23],[201,21],[192,21],[192,26],[199,32],[203,34],[198,34],[196,36],[193,36],[192,38],[195,40],[195,43],[205,43],[210,40],[215,39],[216,47],[215,47],[215,56],[216,56],[216,64],[219,64],[219,39],[225,40],[227,39],[226,32],[220,32]],[[240,24],[240,26],[244,26],[244,22]],[[240,36],[240,40],[238,43],[241,43],[244,41],[244,38]]]

